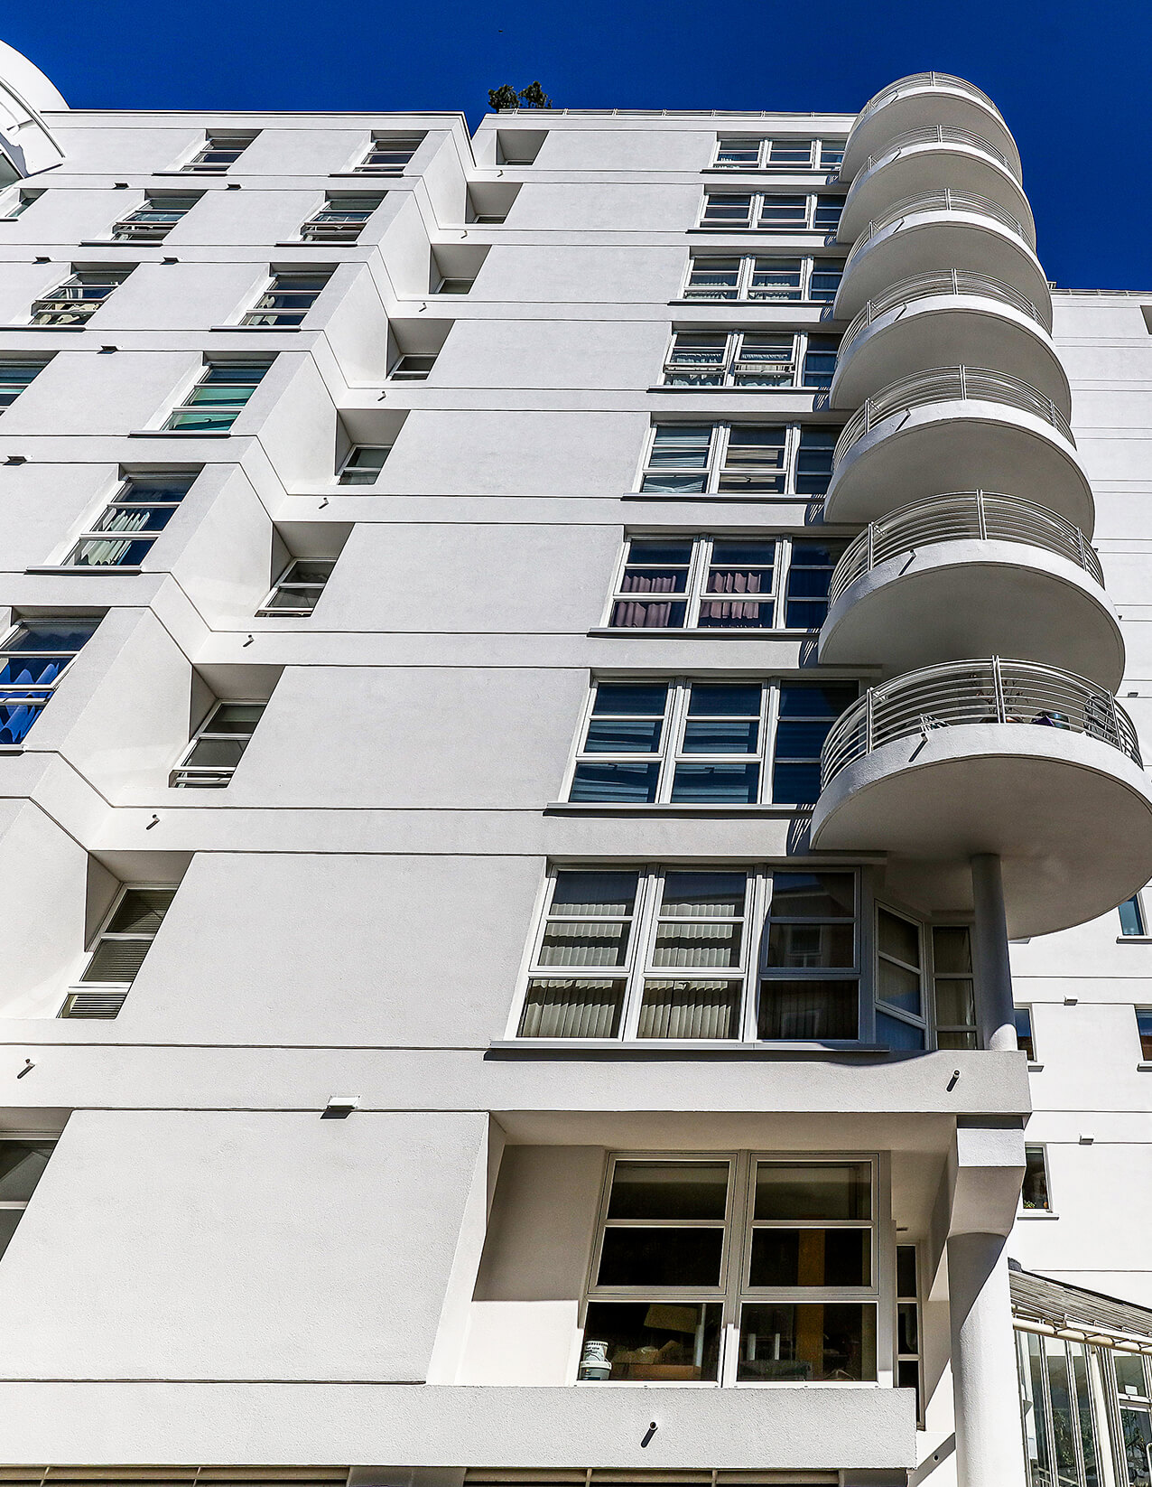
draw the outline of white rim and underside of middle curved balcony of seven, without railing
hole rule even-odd
[[[925,367],[994,367],[1072,413],[1067,376],[1048,332],[1024,311],[978,293],[932,294],[895,305],[840,352],[832,407],[859,407],[880,388]]]

